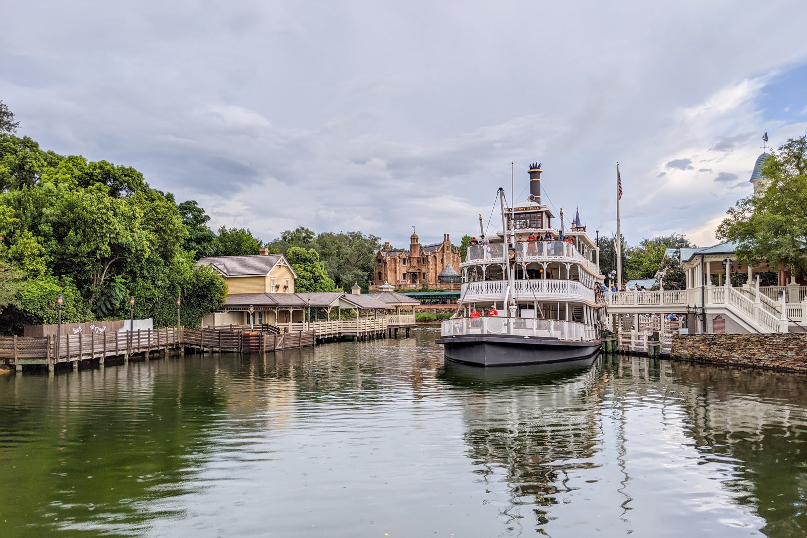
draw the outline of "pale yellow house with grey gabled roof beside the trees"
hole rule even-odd
[[[211,256],[199,260],[210,265],[227,282],[228,294],[293,294],[294,269],[282,254],[261,248],[257,256]]]

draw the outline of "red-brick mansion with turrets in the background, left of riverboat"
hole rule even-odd
[[[378,251],[370,290],[375,290],[385,282],[399,290],[418,290],[423,287],[459,289],[458,283],[441,283],[441,280],[445,280],[446,274],[457,274],[461,261],[459,248],[451,244],[449,234],[443,234],[441,243],[421,245],[417,234],[412,233],[409,237],[409,250],[392,248],[387,241]],[[449,265],[451,269],[446,271]],[[444,275],[442,279],[441,273]]]

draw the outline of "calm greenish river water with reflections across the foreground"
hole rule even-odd
[[[0,536],[807,536],[807,378],[436,337],[0,375]]]

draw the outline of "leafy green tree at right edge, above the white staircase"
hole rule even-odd
[[[789,139],[765,159],[762,190],[730,208],[717,237],[737,244],[746,264],[807,270],[807,136]]]

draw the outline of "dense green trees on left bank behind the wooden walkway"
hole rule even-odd
[[[194,270],[215,234],[194,201],[177,206],[132,167],[44,152],[0,128],[0,332],[65,322],[153,317],[156,327],[198,324],[220,309],[224,278]],[[4,123],[4,126],[11,125]],[[193,235],[191,235],[193,232]],[[255,252],[257,253],[257,252]]]

